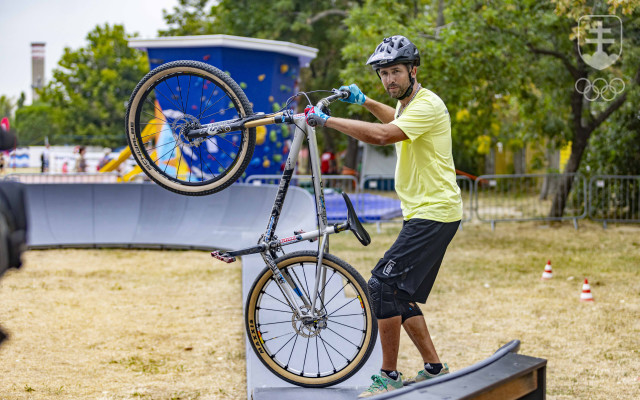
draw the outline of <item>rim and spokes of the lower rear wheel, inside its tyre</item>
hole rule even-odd
[[[314,287],[316,268],[314,259],[281,271],[288,272],[308,295]],[[326,328],[305,329],[300,322],[294,322],[293,312],[281,300],[280,289],[273,278],[268,279],[257,299],[254,328],[272,368],[306,384],[336,380],[353,370],[371,337],[370,310],[364,306],[363,293],[353,281],[339,268],[328,266],[323,302],[328,315]]]

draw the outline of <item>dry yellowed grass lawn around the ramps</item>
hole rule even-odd
[[[398,230],[370,226],[366,248],[334,236],[331,251],[368,278]],[[240,276],[204,252],[28,252],[0,282],[0,399],[245,398]],[[638,226],[465,225],[422,310],[453,370],[520,339],[548,360],[550,399],[640,398]],[[400,353],[415,373],[404,334]]]

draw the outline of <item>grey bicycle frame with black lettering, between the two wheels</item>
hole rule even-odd
[[[278,113],[272,116],[267,116],[264,118],[256,119],[244,124],[245,127],[256,127],[269,125],[273,123],[287,122],[285,121],[283,113]],[[230,251],[221,257],[216,256],[219,259],[225,258],[225,256],[231,260],[235,260],[236,256],[247,255],[247,254],[256,254],[260,253],[264,262],[267,264],[271,272],[275,277],[275,282],[282,291],[287,303],[291,307],[291,309],[296,313],[296,316],[299,318],[302,317],[311,317],[313,319],[322,317],[321,310],[320,312],[316,312],[316,304],[320,301],[320,304],[324,304],[324,286],[326,285],[326,268],[322,264],[322,260],[324,258],[324,253],[329,251],[329,235],[342,232],[348,229],[347,224],[336,224],[331,225],[327,223],[327,211],[324,202],[324,189],[322,184],[322,176],[320,172],[320,158],[318,156],[318,143],[315,134],[315,128],[309,126],[306,123],[304,114],[295,114],[289,116],[287,118],[293,122],[295,125],[295,131],[293,135],[293,142],[291,144],[289,155],[287,156],[287,160],[285,162],[285,168],[282,173],[282,178],[280,180],[280,184],[278,186],[278,192],[276,194],[276,198],[273,204],[273,208],[271,210],[271,215],[269,217],[269,222],[267,224],[267,228],[265,233],[261,236],[260,241],[257,246],[237,250]],[[203,130],[207,129],[203,127]],[[210,132],[210,130],[209,130]],[[278,225],[278,220],[280,218],[280,212],[282,211],[282,206],[284,204],[285,197],[287,195],[287,191],[289,189],[289,184],[291,183],[291,179],[293,177],[293,173],[296,167],[296,163],[298,161],[298,153],[300,152],[300,148],[302,147],[302,141],[306,137],[308,145],[309,145],[309,159],[311,162],[311,179],[313,183],[313,193],[316,204],[316,219],[317,219],[317,230],[312,232],[294,232],[294,236],[286,237],[283,239],[278,239],[275,236],[275,230]],[[314,241],[318,240],[318,260],[317,260],[317,268],[316,268],[316,277],[315,277],[315,287],[311,294],[311,298],[308,298],[304,291],[300,290],[297,287],[295,282],[293,282],[290,276],[285,276],[278,269],[275,259],[277,258],[276,251],[281,249],[283,246],[291,245],[294,243],[299,243],[305,240]],[[213,254],[213,253],[212,253]],[[215,255],[214,255],[215,256]],[[227,260],[224,260],[227,261]],[[322,289],[319,291],[320,283],[322,282]],[[297,295],[304,305],[310,310],[310,315],[305,313],[298,306],[298,303],[295,301],[295,295]],[[322,309],[322,307],[321,307]]]

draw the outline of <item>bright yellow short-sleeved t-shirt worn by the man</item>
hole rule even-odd
[[[396,106],[396,115],[400,102]],[[420,89],[391,122],[409,138],[396,143],[395,187],[405,220],[462,219],[462,197],[451,152],[451,120],[440,97]]]

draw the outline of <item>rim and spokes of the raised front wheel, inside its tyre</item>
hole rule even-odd
[[[156,178],[181,190],[201,190],[235,174],[247,151],[249,130],[198,140],[187,139],[183,130],[245,115],[231,89],[215,76],[196,69],[167,70],[138,100],[137,150]]]

